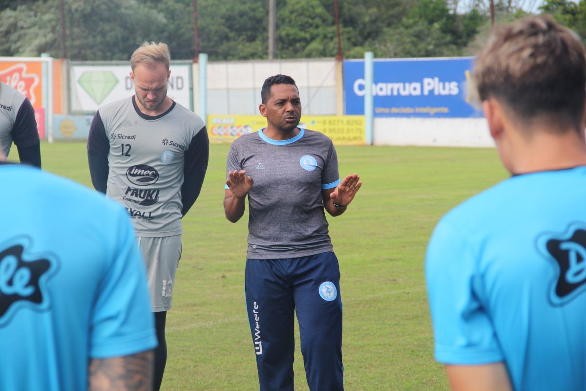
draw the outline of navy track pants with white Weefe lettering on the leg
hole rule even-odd
[[[294,390],[297,312],[309,389],[342,391],[342,298],[335,254],[247,259],[244,279],[260,390]]]

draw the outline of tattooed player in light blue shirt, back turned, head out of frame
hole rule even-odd
[[[151,389],[154,319],[124,209],[3,160],[0,390]]]

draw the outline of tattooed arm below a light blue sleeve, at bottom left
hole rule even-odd
[[[153,352],[106,359],[90,359],[89,391],[150,391]]]

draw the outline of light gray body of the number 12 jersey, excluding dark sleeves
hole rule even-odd
[[[197,132],[206,131],[201,118],[176,103],[157,117],[141,115],[132,98],[98,114],[110,142],[107,196],[125,206],[137,236],[182,233],[185,152]]]

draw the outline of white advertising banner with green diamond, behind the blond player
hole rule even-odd
[[[171,63],[167,95],[192,109],[190,104],[189,64]],[[129,65],[72,65],[70,67],[71,111],[95,113],[105,104],[130,97],[134,83]]]

